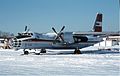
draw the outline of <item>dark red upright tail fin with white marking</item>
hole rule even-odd
[[[101,13],[97,13],[96,20],[93,27],[94,32],[102,32],[102,15],[103,14]]]

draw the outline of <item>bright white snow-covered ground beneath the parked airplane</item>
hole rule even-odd
[[[0,50],[0,76],[120,76],[120,53],[21,55]]]

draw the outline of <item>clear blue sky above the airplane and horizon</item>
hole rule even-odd
[[[118,31],[119,0],[0,0],[0,30],[21,32],[89,31],[97,12],[103,13],[103,31]]]

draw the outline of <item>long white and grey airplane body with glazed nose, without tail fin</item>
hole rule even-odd
[[[94,36],[76,36],[73,32],[64,32],[60,39],[55,40],[55,33],[22,33],[14,39],[13,46],[16,49],[76,49],[91,46],[100,41]]]

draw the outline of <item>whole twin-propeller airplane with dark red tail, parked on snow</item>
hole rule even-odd
[[[97,13],[93,31],[84,34],[75,32],[63,32],[65,26],[59,32],[52,27],[54,33],[36,33],[31,32],[25,26],[25,32],[18,33],[13,40],[15,49],[23,49],[24,54],[29,54],[26,49],[41,49],[40,53],[46,53],[46,49],[74,49],[72,53],[81,54],[79,49],[92,46],[102,41],[99,36],[102,32],[102,14]],[[89,34],[90,33],[90,34]],[[61,54],[61,52],[59,52]],[[66,53],[65,51],[62,53]],[[68,53],[68,52],[67,52]]]

